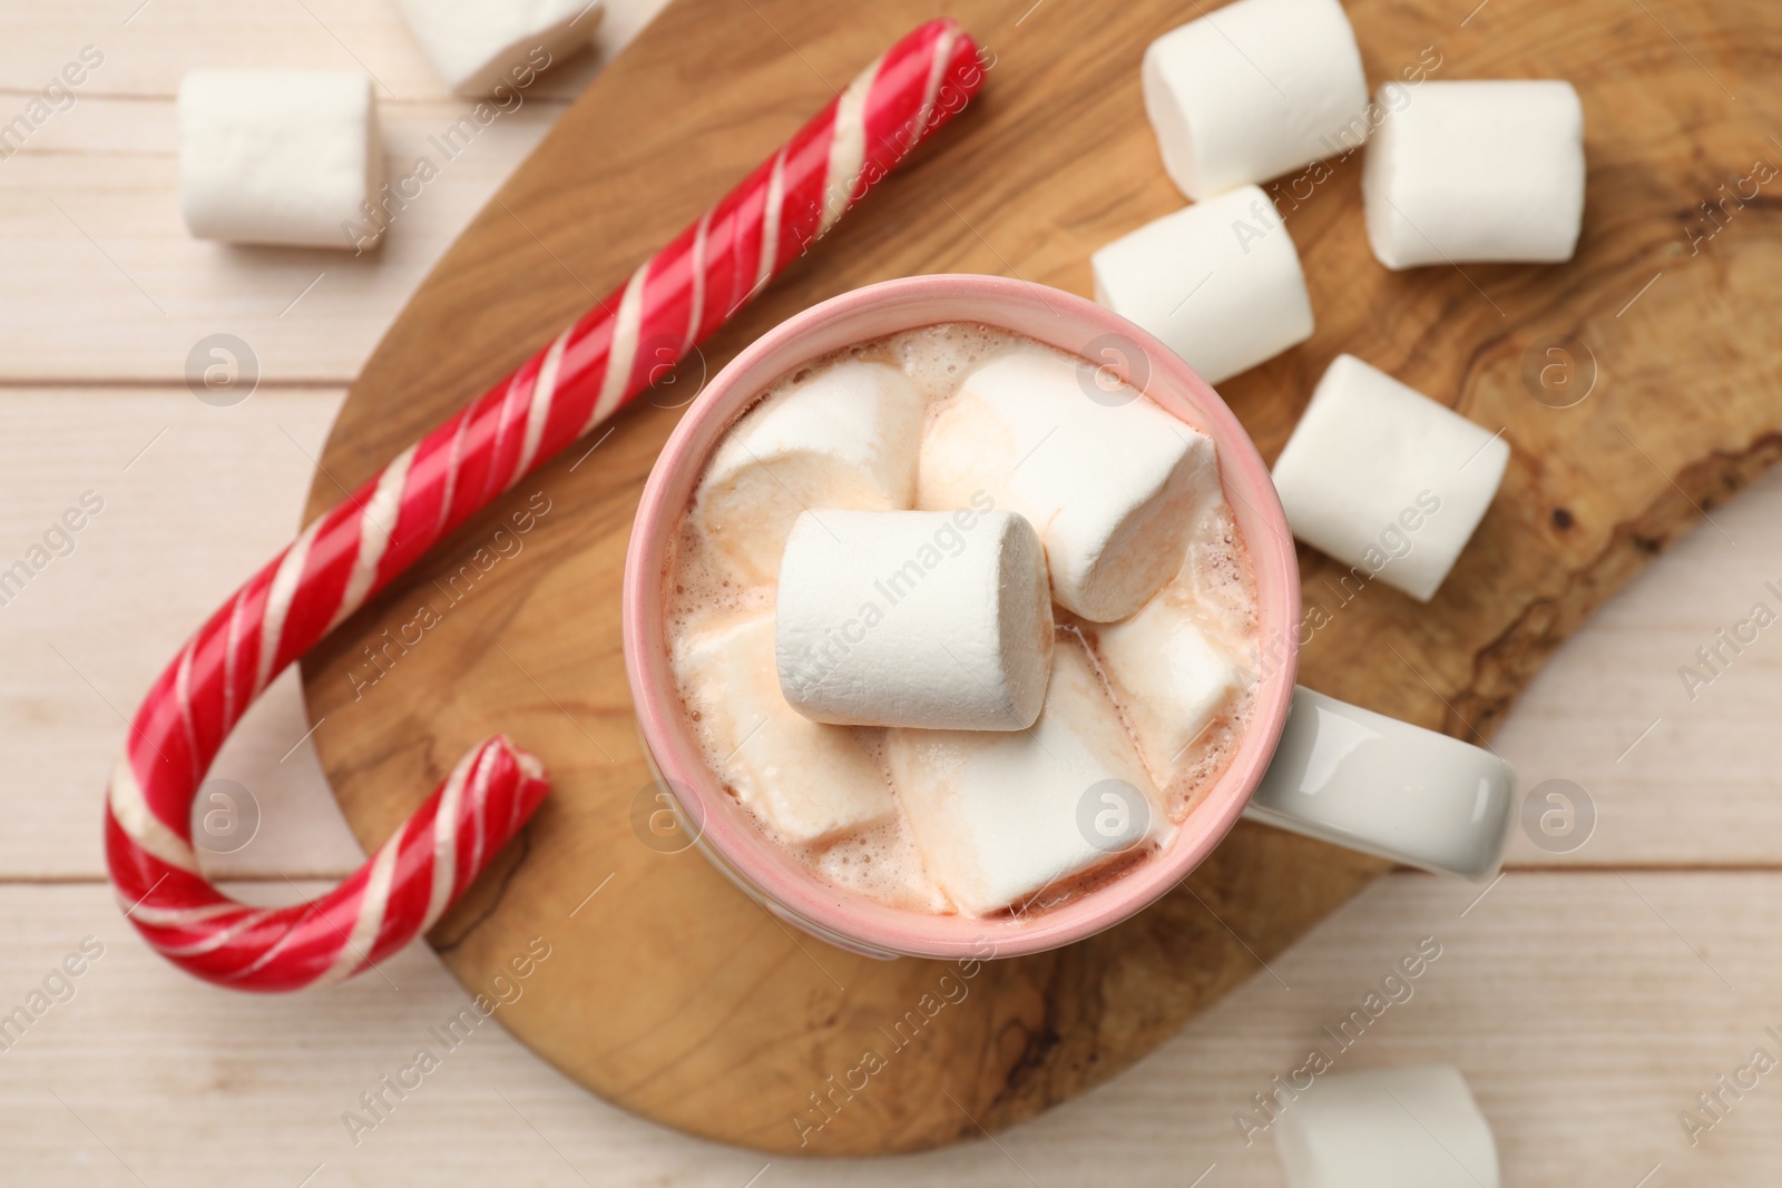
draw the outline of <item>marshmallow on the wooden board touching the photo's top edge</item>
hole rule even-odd
[[[1144,52],[1144,110],[1189,198],[1349,151],[1369,132],[1361,52],[1336,0],[1238,0],[1164,34]]]

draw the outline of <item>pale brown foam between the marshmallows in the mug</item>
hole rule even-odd
[[[725,443],[750,433],[752,419],[761,417],[764,411],[784,408],[788,392],[822,387],[816,381],[823,379],[825,370],[834,370],[838,363],[846,365],[846,369],[857,369],[859,363],[873,363],[902,372],[921,399],[925,426],[932,427],[968,374],[1014,351],[1044,351],[1066,360],[1073,358],[1050,347],[1041,347],[1021,335],[977,324],[953,322],[903,331],[855,344],[795,369],[764,390],[761,401],[738,417],[729,429]],[[1089,399],[1087,394],[1083,399]],[[1144,401],[1144,397],[1137,399],[1148,406],[1146,413],[1149,415],[1153,411],[1149,401]],[[1181,426],[1181,429],[1187,435],[1194,433],[1190,426]],[[715,456],[722,451],[723,443],[715,451]],[[734,465],[729,472],[734,474]],[[800,477],[809,481],[813,474],[820,472],[822,465],[804,465]],[[713,468],[707,465],[707,476],[702,476],[702,484],[711,479],[711,474]],[[846,490],[838,488],[834,502],[825,499],[825,492],[820,486],[798,490],[798,499],[814,511],[822,511],[823,506],[861,506],[857,484]],[[914,492],[911,492],[909,499],[914,502]],[[740,506],[743,508],[743,515],[750,515],[747,504]],[[699,508],[697,497],[695,508]],[[782,511],[779,509],[775,515]],[[1183,821],[1199,798],[1212,787],[1228,766],[1237,741],[1242,737],[1249,718],[1251,693],[1246,684],[1237,682],[1206,711],[1205,728],[1199,730],[1190,745],[1183,746],[1176,755],[1162,755],[1157,739],[1148,739],[1148,734],[1157,734],[1155,720],[1148,720],[1144,712],[1135,712],[1139,707],[1123,705],[1123,695],[1130,696],[1130,693],[1123,689],[1123,682],[1116,671],[1117,666],[1108,663],[1108,659],[1119,659],[1119,652],[1110,650],[1108,657],[1098,654],[1098,632],[1107,631],[1110,625],[1085,622],[1067,609],[1055,606],[1059,650],[1069,650],[1073,655],[1082,655],[1089,661],[1087,668],[1082,668],[1080,661],[1075,659],[1066,663],[1073,666],[1071,671],[1091,671],[1094,680],[1099,682],[1103,695],[1116,707],[1112,716],[1096,720],[1096,723],[1083,728],[1092,732],[1116,728],[1126,736],[1117,741],[1117,748],[1110,745],[1108,748],[1092,746],[1091,750],[1105,750],[1105,753],[1117,750],[1119,753],[1142,757],[1144,769],[1126,769],[1124,782],[1142,785],[1142,794],[1148,801],[1155,803],[1160,819],[1153,823],[1155,828],[1144,839],[1139,839],[1130,848],[1112,848],[1105,860],[1089,851],[1075,855],[1060,867],[1062,873],[1050,878],[1037,894],[1028,894],[1000,908],[989,903],[957,903],[941,891],[939,880],[928,871],[928,862],[925,862],[918,842],[918,832],[911,828],[911,821],[903,814],[903,801],[893,780],[891,764],[887,762],[887,730],[884,728],[807,723],[807,728],[816,732],[846,732],[852,746],[864,748],[871,755],[886,789],[889,789],[893,801],[898,803],[898,812],[889,819],[873,819],[861,828],[843,830],[839,835],[823,834],[820,839],[809,841],[807,837],[779,828],[772,816],[761,810],[761,805],[772,803],[772,798],[768,796],[768,789],[754,784],[764,778],[763,771],[775,768],[779,757],[754,755],[750,764],[738,762],[736,748],[745,748],[741,753],[747,755],[747,748],[759,748],[763,737],[732,739],[725,734],[720,721],[702,712],[700,702],[709,696],[713,688],[709,673],[702,675],[690,668],[686,657],[700,654],[709,657],[711,650],[699,647],[702,638],[722,632],[738,620],[772,614],[777,604],[777,557],[772,575],[764,577],[763,574],[768,574],[770,566],[750,557],[738,557],[736,550],[727,547],[731,541],[715,541],[711,527],[709,518],[699,513],[681,518],[666,575],[665,609],[668,639],[672,643],[670,657],[683,691],[683,702],[693,721],[693,734],[706,752],[707,764],[718,773],[720,784],[750,810],[763,832],[798,857],[816,878],[839,889],[893,907],[937,914],[1028,914],[1057,907],[1110,878],[1117,878],[1133,864],[1148,860],[1151,853],[1167,844],[1169,835],[1174,832],[1173,826]],[[761,527],[759,524],[743,524],[740,531],[732,531],[731,540],[747,538]],[[1039,527],[1042,525],[1035,524],[1035,529]],[[1053,600],[1057,602],[1055,593]],[[1198,636],[1230,663],[1231,671],[1249,673],[1255,671],[1258,659],[1255,600],[1255,579],[1242,538],[1224,500],[1212,499],[1194,513],[1194,524],[1187,533],[1185,554],[1178,572],[1146,606],[1167,606],[1171,614],[1187,616]],[[1057,668],[1053,670],[1053,677],[1057,677]],[[772,673],[766,673],[766,679],[772,682]],[[700,693],[702,680],[704,693]],[[1073,693],[1073,704],[1083,704],[1080,682],[1080,677],[1073,677],[1073,689],[1078,689]],[[1057,712],[1080,714],[1080,711],[1069,711],[1067,707]],[[743,723],[747,714],[716,714],[716,718]],[[740,730],[741,725],[732,732]],[[802,736],[804,730],[804,727],[800,730],[781,730],[775,737],[784,743],[788,737],[795,739]],[[932,734],[939,741],[943,736],[962,737],[968,732],[902,728],[898,730],[900,746],[909,748],[912,743],[921,743],[921,736],[925,734]],[[1157,755],[1162,755],[1162,761]],[[788,761],[795,759],[788,757]],[[911,778],[907,771],[905,778]],[[939,862],[939,855],[934,860]],[[1012,878],[1005,880],[1003,885],[1016,887],[1021,883],[1019,878]]]

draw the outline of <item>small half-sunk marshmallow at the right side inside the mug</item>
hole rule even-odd
[[[1165,586],[1132,618],[1096,629],[1096,655],[1158,784],[1169,784],[1238,688],[1237,666],[1206,639],[1181,593]]]

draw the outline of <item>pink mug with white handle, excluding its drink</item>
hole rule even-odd
[[[813,358],[936,322],[998,326],[1087,358],[1208,433],[1256,574],[1263,663],[1251,721],[1230,766],[1167,850],[1044,912],[932,915],[825,883],[768,841],[720,787],[668,664],[668,541],[731,422],[779,376]],[[873,956],[1016,956],[1082,940],[1180,883],[1246,812],[1413,866],[1488,878],[1513,810],[1515,775],[1508,764],[1458,739],[1297,689],[1299,632],[1299,568],[1287,518],[1262,456],[1224,401],[1164,344],[1117,313],[996,276],[912,276],[870,285],[756,340],[711,379],[668,438],[643,488],[625,556],[625,671],[645,750],[661,784],[672,789],[684,828],[718,869],[777,915]]]

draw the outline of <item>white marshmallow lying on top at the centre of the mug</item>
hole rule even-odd
[[[1046,700],[1046,550],[1010,511],[805,511],[775,614],[781,691],[816,721],[1025,730]]]

